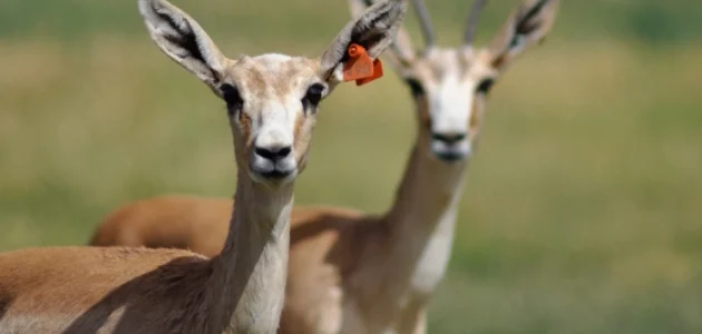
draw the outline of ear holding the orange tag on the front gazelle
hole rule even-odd
[[[321,73],[330,85],[342,81],[342,69],[349,61],[352,43],[363,47],[377,59],[388,48],[407,12],[407,0],[386,0],[371,6],[358,19],[351,20],[329,46],[321,58]]]

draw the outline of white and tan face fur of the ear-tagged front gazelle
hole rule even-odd
[[[299,158],[306,154],[311,136],[310,127],[302,125],[314,121],[313,115],[305,115],[301,100],[310,85],[320,80],[316,68],[309,60],[279,53],[243,57],[236,68],[234,77],[245,101],[243,111],[250,118],[250,175],[254,180],[269,183],[263,175],[286,174],[274,183],[291,181],[299,173]],[[289,154],[271,158],[259,150]]]

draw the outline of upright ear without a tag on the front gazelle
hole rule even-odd
[[[166,0],[139,0],[139,12],[160,50],[218,91],[230,60],[203,28]]]

